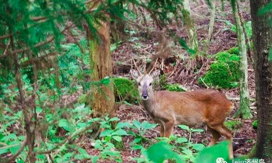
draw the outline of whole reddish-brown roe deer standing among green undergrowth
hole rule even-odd
[[[191,92],[153,92],[152,84],[160,74],[160,70],[151,75],[139,74],[131,69],[130,73],[138,84],[143,106],[152,119],[161,126],[161,137],[172,134],[174,125],[185,124],[195,126],[205,124],[212,133],[208,146],[216,144],[221,135],[229,140],[229,158],[233,158],[232,133],[223,124],[225,118],[233,110],[233,104],[225,95],[214,90],[198,90]]]

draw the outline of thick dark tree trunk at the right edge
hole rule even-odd
[[[268,56],[272,45],[272,15],[258,11],[272,0],[250,0],[253,32],[254,69],[257,106],[257,141],[253,156],[272,162],[272,62]]]

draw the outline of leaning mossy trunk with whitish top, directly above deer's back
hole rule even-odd
[[[189,0],[183,0],[181,14],[188,32],[189,47],[195,51],[198,51],[198,35],[197,30],[195,28],[194,20],[191,17],[191,8]]]

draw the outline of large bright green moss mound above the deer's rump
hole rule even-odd
[[[208,87],[231,89],[239,81],[239,56],[228,52],[216,54],[216,61],[206,74],[198,79],[199,84]]]

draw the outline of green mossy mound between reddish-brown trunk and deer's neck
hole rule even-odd
[[[113,78],[113,82],[115,85],[114,95],[117,101],[124,99],[127,102],[132,103],[138,100],[139,98],[138,90],[131,80],[122,77],[117,77]]]

